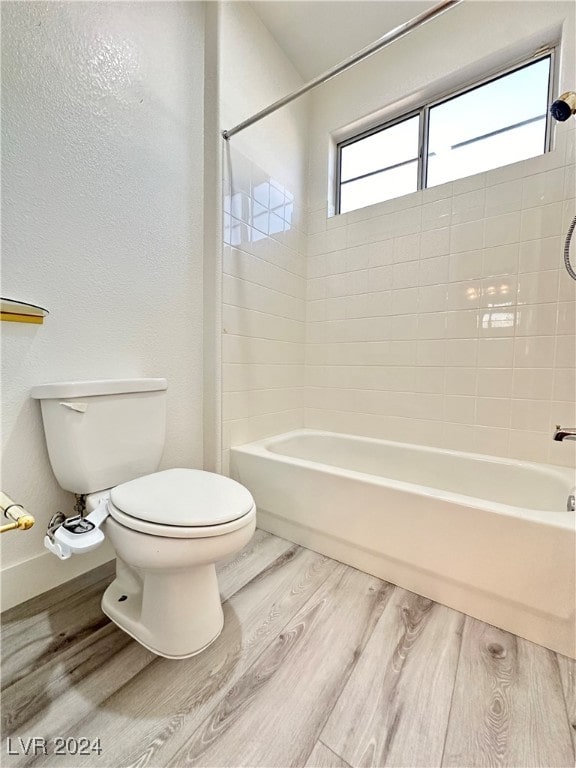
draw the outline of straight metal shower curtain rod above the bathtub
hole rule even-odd
[[[234,128],[230,128],[227,131],[222,131],[222,136],[226,139],[226,141],[228,141],[228,139],[234,136],[234,134],[243,131],[244,128],[248,128],[248,126],[257,123],[259,120],[262,120],[262,118],[268,117],[268,115],[271,115],[272,112],[276,112],[277,109],[286,106],[286,104],[290,104],[291,101],[294,101],[294,99],[297,99],[299,96],[308,93],[308,91],[311,91],[312,88],[316,88],[317,85],[322,85],[322,83],[331,80],[341,72],[345,72],[347,69],[353,67],[355,64],[358,64],[360,61],[367,59],[373,53],[377,53],[382,48],[385,48],[387,45],[390,45],[390,43],[393,43],[395,40],[399,40],[401,37],[404,37],[404,35],[407,35],[413,29],[422,26],[427,21],[436,18],[436,16],[439,16],[441,13],[444,13],[444,11],[447,11],[449,8],[452,8],[461,2],[462,0],[443,0],[443,2],[434,5],[427,11],[420,13],[413,19],[410,19],[410,21],[407,21],[404,24],[401,24],[399,27],[392,29],[390,32],[387,32],[385,35],[378,38],[378,40],[371,43],[370,45],[367,45],[365,48],[362,48],[362,50],[358,51],[358,53],[355,53],[353,56],[350,56],[348,59],[340,62],[340,64],[332,67],[332,69],[327,70],[324,72],[324,74],[318,75],[318,77],[315,77],[313,80],[310,80],[309,82],[300,86],[300,88],[292,91],[292,93],[289,93],[282,99],[278,99],[278,101],[270,104],[270,106],[262,109],[260,112],[256,112],[256,114],[252,115],[252,117],[249,117],[246,120],[243,120],[241,123],[238,123],[238,125],[235,125]]]

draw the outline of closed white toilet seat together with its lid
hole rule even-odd
[[[256,507],[250,492],[235,480],[197,469],[168,469],[113,488],[108,510],[134,531],[201,538],[241,528]]]

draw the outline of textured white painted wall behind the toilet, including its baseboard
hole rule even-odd
[[[1,538],[4,607],[109,559],[42,539],[54,480],[39,382],[165,376],[162,466],[202,466],[203,7],[3,3],[2,489],[36,517]]]

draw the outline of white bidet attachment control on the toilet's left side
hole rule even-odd
[[[91,552],[104,541],[100,526],[108,517],[107,501],[101,501],[87,517],[75,515],[65,518],[61,513],[54,515],[44,537],[44,546],[60,560],[71,555]]]

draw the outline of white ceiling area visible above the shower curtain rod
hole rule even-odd
[[[252,7],[304,80],[310,80],[437,0],[253,0]]]

